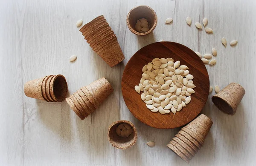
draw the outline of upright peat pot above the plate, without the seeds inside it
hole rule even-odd
[[[135,28],[137,20],[140,20],[142,18],[145,18],[148,21],[149,30],[146,32],[139,32]],[[130,31],[134,34],[137,34],[137,35],[150,34],[157,26],[157,14],[149,6],[145,6],[145,5],[137,6],[131,9],[131,11],[129,11],[127,15],[126,23]]]

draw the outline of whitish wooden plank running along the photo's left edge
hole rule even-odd
[[[18,11],[0,2],[0,165],[23,164],[23,88]]]

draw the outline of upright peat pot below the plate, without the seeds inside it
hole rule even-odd
[[[118,135],[116,132],[116,128],[120,125],[128,125],[131,126],[131,133],[127,137],[122,137],[121,135]],[[118,129],[119,130],[119,129]],[[137,141],[137,129],[134,126],[133,123],[131,123],[128,120],[118,120],[114,123],[112,123],[108,127],[108,140],[111,143],[111,145],[117,149],[128,149],[131,146],[133,146]]]

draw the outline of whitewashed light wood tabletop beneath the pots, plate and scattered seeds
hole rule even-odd
[[[136,36],[126,26],[128,11],[148,5],[157,13],[153,33]],[[213,125],[191,166],[256,165],[256,2],[255,0],[0,0],[0,165],[1,166],[186,166],[167,143],[179,129],[154,129],[127,109],[121,93],[125,64],[143,46],[161,39],[188,46],[202,54],[218,51],[215,66],[207,66],[210,84],[224,88],[240,83],[246,94],[234,116],[218,111],[212,92],[203,113]],[[115,32],[125,60],[110,68],[76,28],[103,14]],[[186,25],[187,16],[192,26]],[[173,23],[165,25],[167,17]],[[198,31],[195,22],[209,19],[214,34]],[[238,40],[235,47],[221,44]],[[75,63],[69,62],[73,54]],[[73,93],[101,77],[113,94],[85,120],[66,102],[47,103],[26,97],[26,81],[63,74]],[[137,143],[114,149],[107,139],[115,120],[137,126]],[[145,143],[153,140],[156,145]]]

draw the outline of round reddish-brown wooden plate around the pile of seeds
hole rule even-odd
[[[154,58],[171,57],[179,60],[180,65],[189,67],[189,74],[194,76],[195,93],[191,102],[176,114],[151,112],[141,100],[134,86],[139,85],[142,68]],[[159,129],[173,129],[192,121],[204,108],[209,94],[209,76],[202,60],[186,46],[174,42],[157,42],[149,44],[136,52],[125,66],[122,76],[122,95],[130,112],[141,122]]]

